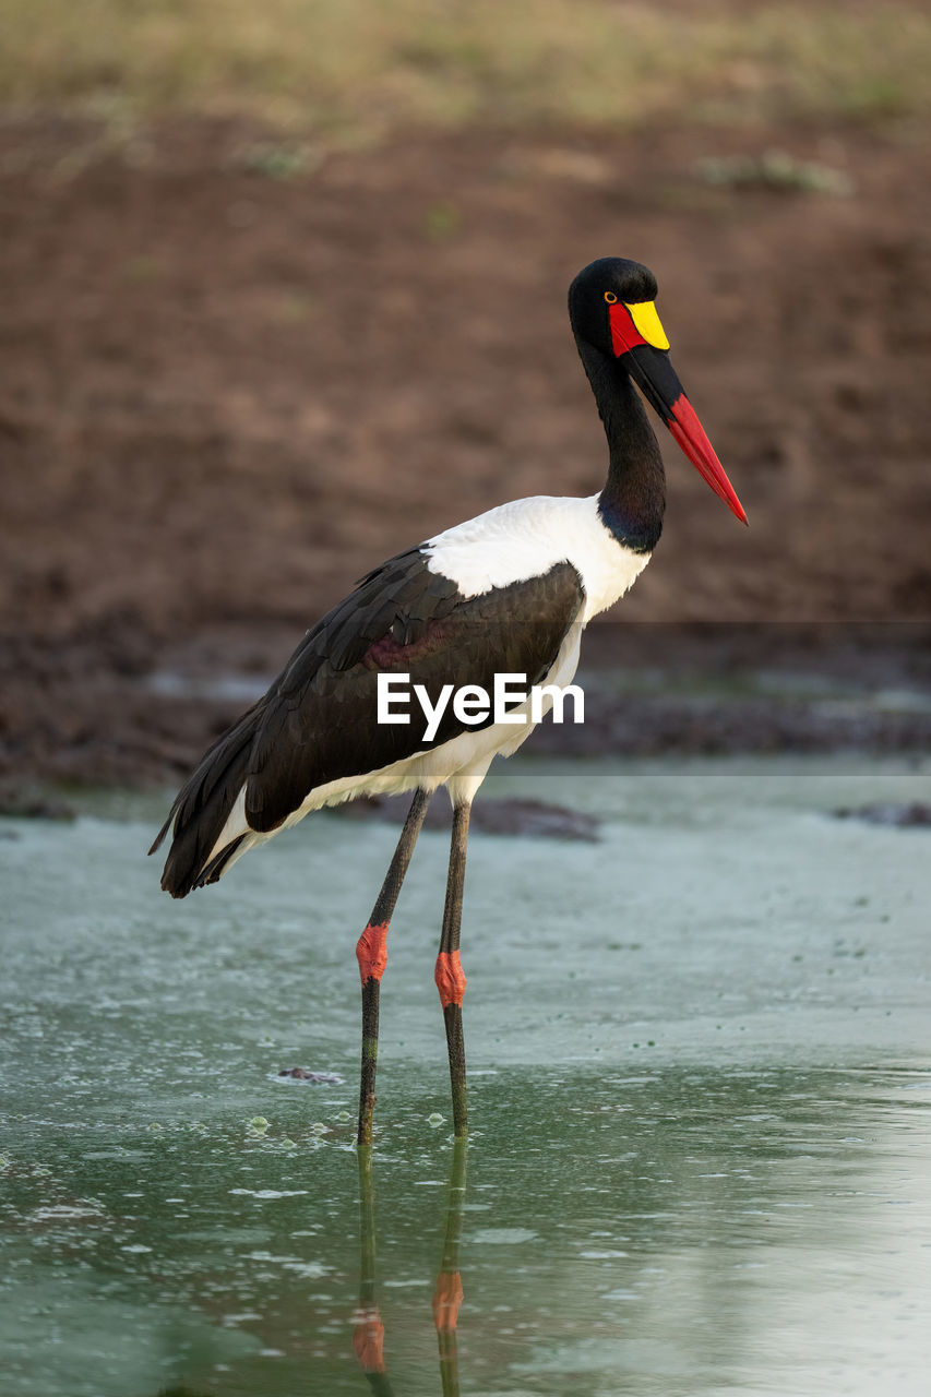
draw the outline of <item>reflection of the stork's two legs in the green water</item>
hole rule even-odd
[[[459,1270],[459,1243],[466,1203],[464,1139],[453,1143],[453,1158],[446,1186],[446,1227],[439,1273],[433,1288],[433,1324],[439,1347],[440,1391],[459,1397],[459,1354],[456,1324],[463,1303],[463,1278]],[[359,1157],[359,1306],[355,1315],[352,1348],[376,1397],[393,1397],[384,1365],[384,1324],[379,1315],[376,1287],[375,1179],[372,1147],[361,1146]]]

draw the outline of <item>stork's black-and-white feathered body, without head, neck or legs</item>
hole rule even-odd
[[[308,631],[179,792],[166,891],[183,897],[215,882],[246,849],[324,805],[415,787],[449,785],[454,799],[467,785],[474,795],[492,759],[528,736],[530,721],[466,726],[447,704],[436,738],[424,743],[417,722],[376,725],[377,673],[410,673],[432,701],[447,683],[491,692],[496,672],[569,683],[582,627],[649,559],[618,569],[608,538],[593,502],[544,496],[447,529],[369,573]],[[520,557],[521,542],[533,556]]]

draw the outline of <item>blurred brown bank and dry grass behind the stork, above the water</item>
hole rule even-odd
[[[931,685],[925,4],[0,0],[0,29],[13,807],[171,780],[376,562],[598,489],[565,293],[605,254],[657,274],[751,520],[660,427],[665,534],[590,662],[667,708],[625,690],[611,745],[931,736],[872,701]],[[868,692],[854,726],[784,685],[670,698],[780,657]]]

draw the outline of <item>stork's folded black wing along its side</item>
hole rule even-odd
[[[449,683],[481,685],[491,693],[495,673],[523,673],[527,685],[538,683],[582,601],[582,580],[570,563],[468,599],[456,583],[429,571],[421,548],[369,573],[308,631],[267,694],[214,743],[179,792],[154,845],[173,819],[162,886],[183,897],[197,884],[243,781],[249,826],[267,833],[315,788],[470,731],[452,704],[429,743],[417,703],[410,725],[379,725],[379,673],[410,675],[433,704]],[[222,854],[210,875],[222,872]]]

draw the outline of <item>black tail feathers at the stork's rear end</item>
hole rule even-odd
[[[162,887],[172,897],[187,897],[192,888],[215,883],[245,837],[240,834],[214,855],[217,840],[249,774],[261,710],[261,701],[254,704],[204,753],[175,796],[168,819],[148,851],[154,854],[172,830],[172,845],[162,872]]]

